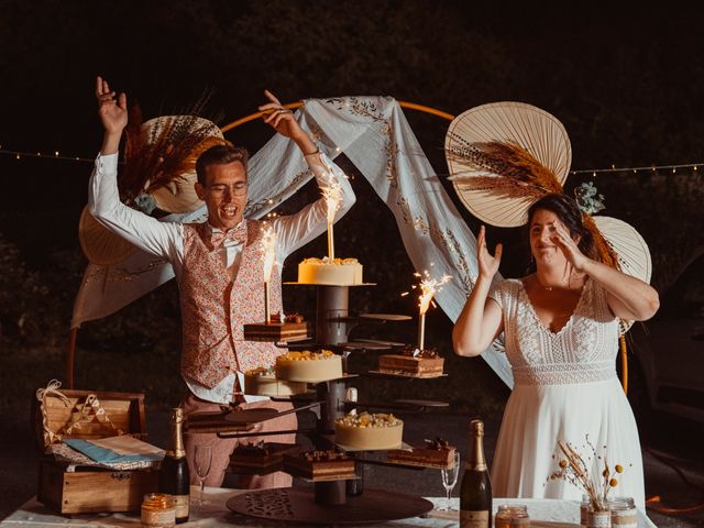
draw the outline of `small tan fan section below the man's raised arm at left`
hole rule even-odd
[[[136,251],[130,242],[103,227],[84,207],[78,222],[78,240],[84,254],[92,264],[109,266],[124,261]]]

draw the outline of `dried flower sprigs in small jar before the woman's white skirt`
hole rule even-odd
[[[596,454],[596,449],[592,442],[590,442],[588,435],[586,436],[586,443],[592,449],[593,455],[601,460],[602,457]],[[562,479],[584,491],[590,497],[590,505],[594,512],[607,510],[608,492],[618,485],[616,475],[623,473],[624,468],[616,464],[612,472],[606,455],[604,455],[604,470],[602,474],[598,476],[590,475],[592,458],[585,461],[571,443],[562,440],[558,441],[558,447],[562,455],[564,455],[564,459],[560,459],[560,470],[552,473],[550,479]],[[604,449],[606,449],[606,446],[604,446]]]

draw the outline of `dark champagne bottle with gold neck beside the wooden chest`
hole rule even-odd
[[[183,409],[176,407],[172,411],[172,439],[168,451],[164,455],[162,470],[158,475],[158,491],[168,493],[176,501],[176,522],[188,520],[190,505],[190,475],[182,425],[184,422]]]

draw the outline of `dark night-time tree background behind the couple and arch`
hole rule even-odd
[[[139,102],[145,118],[178,112],[210,94],[208,110],[226,124],[255,111],[265,88],[285,102],[388,95],[452,114],[518,100],[562,121],[574,169],[704,161],[701,8],[551,3],[2,0],[0,148],[92,158],[101,136],[94,79],[102,75]],[[448,123],[407,114],[442,177]],[[267,127],[250,123],[228,139],[256,151],[270,135]],[[344,168],[354,174],[350,164]],[[72,304],[86,265],[76,231],[90,169],[87,162],[0,155],[0,366],[7,383],[20,387],[0,406],[63,377]],[[585,179],[591,177],[570,176],[568,190]],[[604,213],[644,235],[653,284],[666,288],[702,243],[701,176],[692,169],[618,172],[595,183],[606,196]],[[378,283],[355,290],[353,308],[413,314],[413,301],[399,297],[413,270],[393,218],[364,178],[353,185],[358,205],[336,229],[337,243]],[[454,196],[451,186],[448,191]],[[316,189],[307,187],[283,209],[315,198]],[[465,219],[477,228],[471,215]],[[520,230],[490,230],[490,242],[509,245],[504,275],[524,271],[521,238]],[[294,278],[302,256],[322,254],[323,244],[292,255],[284,278]],[[292,287],[286,296],[287,306],[312,315],[309,290]],[[86,324],[77,385],[145,391],[152,402],[173,402],[183,389],[178,317],[169,284]],[[429,328],[453,375],[442,388],[419,391],[449,391],[458,405],[501,405],[506,392],[481,360],[452,358],[451,323],[440,310]],[[413,340],[415,329],[359,331]]]

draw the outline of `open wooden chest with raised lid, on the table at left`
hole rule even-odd
[[[56,393],[44,398],[44,409],[34,400],[32,415],[37,448],[45,452],[44,424],[53,432],[65,431],[76,419],[90,395],[98,398],[99,406],[85,411],[79,428],[64,433],[63,439],[97,439],[117,435],[117,430],[145,440],[146,420],[144,395],[108,393],[99,391],[62,391],[67,400]],[[95,409],[105,415],[95,415]],[[94,413],[94,416],[90,416]],[[101,413],[101,411],[99,411]],[[106,419],[107,418],[107,419]],[[40,462],[37,498],[48,508],[61,514],[95,512],[138,510],[144,494],[157,491],[158,472],[155,470],[113,471],[91,466],[76,466],[66,471],[68,464],[44,457]]]

